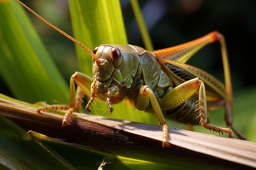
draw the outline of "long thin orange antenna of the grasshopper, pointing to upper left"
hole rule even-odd
[[[76,44],[80,45],[83,49],[86,50],[86,52],[88,52],[90,54],[90,56],[93,57],[93,59],[99,64],[100,60],[98,59],[98,57],[95,56],[95,54],[90,51],[84,44],[82,44],[81,42],[77,41],[76,39],[74,39],[72,36],[68,35],[67,33],[65,33],[64,31],[62,31],[61,29],[55,27],[54,25],[52,25],[51,23],[49,23],[47,20],[45,20],[44,18],[42,18],[42,16],[38,15],[35,11],[31,10],[30,7],[24,5],[24,3],[20,2],[19,0],[16,0],[17,2],[20,3],[20,5],[22,5],[23,7],[27,8],[28,11],[32,12],[35,16],[37,16],[39,19],[41,19],[44,23],[46,23],[47,25],[49,25],[50,27],[54,28],[56,31],[59,31],[62,35],[66,36],[69,40],[76,42]]]

